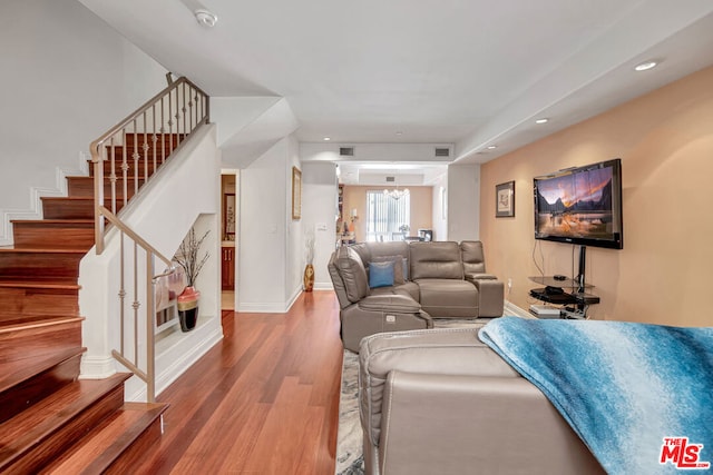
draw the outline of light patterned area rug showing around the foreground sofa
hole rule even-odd
[[[436,328],[468,328],[486,324],[491,318],[433,319]],[[359,355],[344,350],[342,360],[342,393],[339,399],[339,429],[336,436],[338,475],[362,475],[364,459],[362,431],[359,420]]]

